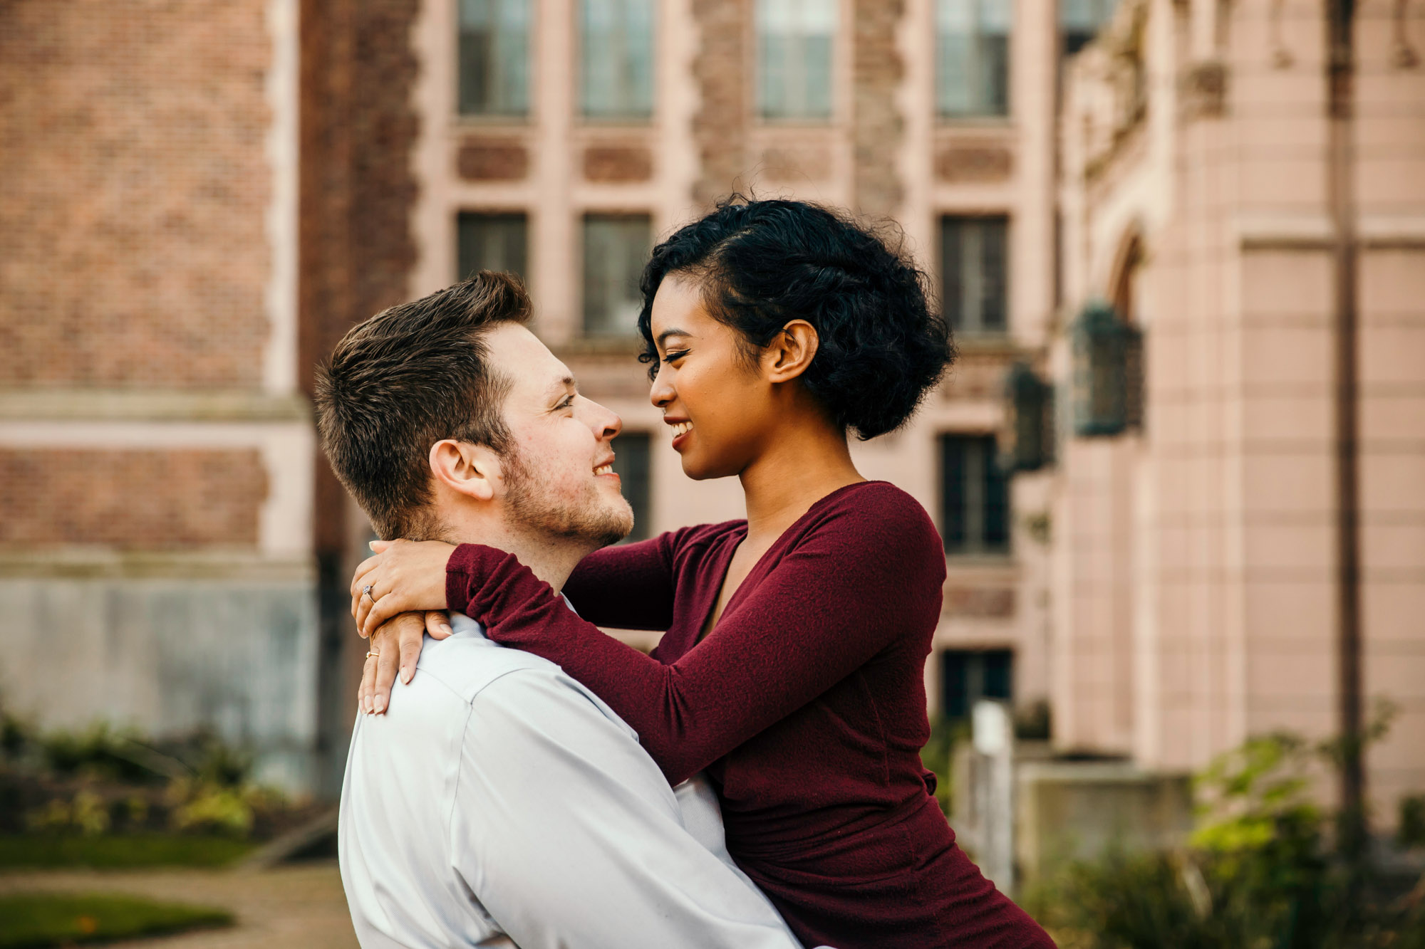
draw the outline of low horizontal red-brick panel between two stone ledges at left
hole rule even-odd
[[[256,450],[0,450],[0,544],[254,547]]]

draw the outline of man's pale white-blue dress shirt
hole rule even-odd
[[[799,949],[701,778],[674,792],[559,665],[452,627],[356,717],[339,855],[362,946]]]

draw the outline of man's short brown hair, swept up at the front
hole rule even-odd
[[[359,323],[318,366],[322,450],[383,539],[439,530],[426,512],[432,445],[457,439],[509,450],[502,406],[510,380],[489,365],[483,336],[529,318],[516,276],[480,271]]]

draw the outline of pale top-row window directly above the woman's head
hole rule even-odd
[[[836,0],[757,0],[757,111],[831,118]]]

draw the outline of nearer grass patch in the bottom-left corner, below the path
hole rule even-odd
[[[155,903],[114,893],[0,896],[0,949],[41,949],[232,925],[209,906]]]

